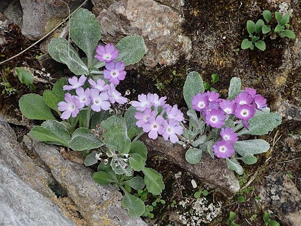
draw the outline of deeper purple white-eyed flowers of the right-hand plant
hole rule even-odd
[[[213,146],[219,158],[231,157],[234,154],[233,144],[238,140],[232,128],[222,128],[225,121],[230,118],[235,120],[235,124],[242,124],[248,129],[249,120],[254,117],[256,109],[261,110],[267,106],[266,99],[252,88],[245,88],[233,100],[221,99],[215,91],[198,93],[192,98],[192,104],[205,117],[206,124],[221,129],[222,141]]]

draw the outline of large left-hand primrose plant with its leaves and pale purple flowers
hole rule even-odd
[[[145,167],[147,150],[143,142],[138,141],[142,133],[135,126],[135,111],[129,108],[122,117],[125,109],[122,104],[128,99],[116,86],[126,76],[124,67],[143,57],[144,40],[129,36],[116,46],[98,45],[99,24],[94,15],[83,9],[71,17],[70,38],[86,58],[80,58],[64,38],[53,39],[49,53],[80,76],[69,78],[68,83],[64,77],[59,79],[43,96],[24,95],[19,100],[20,109],[29,119],[46,120],[31,130],[36,140],[83,151],[86,166],[100,162],[93,179],[121,189],[124,192],[122,206],[130,216],[138,217],[144,214],[145,205],[131,189],[146,186],[149,193],[159,195],[165,185],[160,173]],[[99,70],[102,67],[105,68]],[[114,112],[116,115],[112,115]],[[144,178],[134,175],[134,171],[141,171]]]

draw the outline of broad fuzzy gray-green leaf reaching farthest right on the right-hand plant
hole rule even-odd
[[[266,112],[250,119],[249,130],[245,128],[238,132],[238,135],[263,135],[268,134],[274,128],[281,124],[281,115],[275,112]]]

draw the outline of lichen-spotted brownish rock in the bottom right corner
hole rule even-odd
[[[271,172],[260,187],[261,201],[287,225],[301,225],[301,193],[285,172]],[[272,214],[273,215],[273,214]]]

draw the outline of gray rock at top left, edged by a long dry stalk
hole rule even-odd
[[[38,40],[68,17],[68,4],[73,12],[84,0],[20,0],[23,9],[22,34]]]

